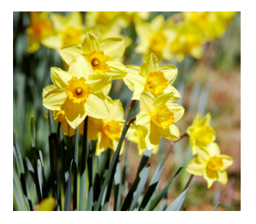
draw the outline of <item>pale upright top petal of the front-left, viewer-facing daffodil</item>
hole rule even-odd
[[[83,55],[79,55],[72,60],[68,72],[71,73],[71,76],[77,77],[78,80],[80,77],[88,80],[88,77],[94,74],[94,69]]]

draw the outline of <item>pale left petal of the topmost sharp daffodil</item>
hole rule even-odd
[[[62,59],[68,65],[70,65],[74,57],[77,57],[80,54],[83,54],[82,50],[77,44],[68,44],[64,47],[61,47],[61,49],[59,50],[59,53],[61,54]]]

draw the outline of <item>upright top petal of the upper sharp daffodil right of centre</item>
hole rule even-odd
[[[157,71],[159,67],[158,59],[155,54],[151,53],[149,57],[142,63],[140,74],[147,79],[149,73]]]

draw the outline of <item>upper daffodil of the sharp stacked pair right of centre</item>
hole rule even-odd
[[[132,99],[139,100],[144,90],[157,96],[160,93],[174,93],[173,100],[180,98],[180,94],[172,83],[176,80],[178,70],[173,65],[159,66],[155,54],[150,54],[146,61],[139,66],[126,66],[127,75],[123,78],[126,86],[133,91]]]

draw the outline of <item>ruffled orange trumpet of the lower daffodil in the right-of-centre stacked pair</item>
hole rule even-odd
[[[173,112],[171,112],[168,107],[161,107],[152,113],[151,122],[165,130],[169,125],[174,124]]]

